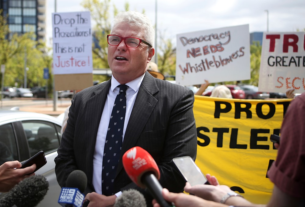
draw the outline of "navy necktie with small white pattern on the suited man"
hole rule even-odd
[[[114,177],[120,159],[120,151],[123,140],[123,127],[126,112],[127,85],[119,85],[120,92],[114,101],[108,131],[106,135],[103,166],[102,166],[102,194],[109,196],[114,194]]]

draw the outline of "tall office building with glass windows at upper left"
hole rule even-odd
[[[46,39],[46,0],[0,0],[2,15],[12,33],[34,32],[36,40]]]

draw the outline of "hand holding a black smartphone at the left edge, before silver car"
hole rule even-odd
[[[33,172],[36,164],[23,169],[19,168],[21,168],[21,163],[17,160],[0,165],[0,192],[8,192],[24,178],[35,175]]]

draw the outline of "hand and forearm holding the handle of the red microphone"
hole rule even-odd
[[[196,207],[223,207],[221,203],[215,203],[211,201],[206,201],[202,198],[188,195],[185,193],[171,193],[166,188],[163,188],[162,195],[165,200],[168,202],[173,202],[176,207],[185,207],[185,206],[196,206]],[[160,204],[157,203],[156,199],[152,200],[153,207],[160,207]]]

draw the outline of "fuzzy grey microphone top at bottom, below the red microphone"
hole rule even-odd
[[[145,198],[142,193],[135,189],[123,191],[115,200],[113,207],[147,207]]]

